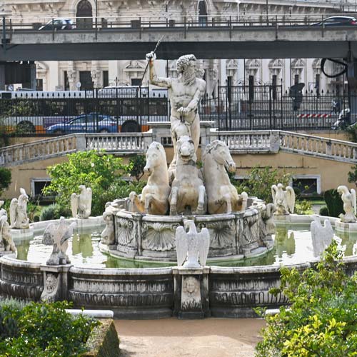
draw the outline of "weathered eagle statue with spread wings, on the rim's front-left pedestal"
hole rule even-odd
[[[46,264],[49,266],[57,266],[69,264],[71,261],[66,255],[68,248],[68,240],[71,238],[77,223],[73,222],[69,226],[66,225],[64,217],[59,218],[59,223],[49,223],[44,231],[42,243],[54,245],[51,256]]]

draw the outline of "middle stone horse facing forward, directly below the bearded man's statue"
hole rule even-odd
[[[206,189],[196,166],[196,153],[193,140],[181,136],[176,142],[176,178],[172,182],[170,215],[204,214],[206,212]]]

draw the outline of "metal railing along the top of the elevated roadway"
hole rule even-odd
[[[317,24],[331,16],[356,16],[356,9],[352,6],[346,8],[346,12],[335,11],[331,14],[209,14],[207,16],[106,16],[106,17],[71,17],[65,16],[71,21],[71,25],[57,23],[58,19],[51,17],[31,18],[4,16],[4,31],[10,37],[15,31],[111,31],[111,29],[209,29],[214,27],[244,27],[244,26],[310,26]],[[322,26],[322,24],[321,24]]]

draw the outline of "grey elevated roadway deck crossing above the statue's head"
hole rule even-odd
[[[159,59],[357,58],[354,26],[141,26],[39,31],[3,29],[0,61]]]

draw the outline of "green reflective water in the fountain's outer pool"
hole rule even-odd
[[[176,263],[157,263],[114,258],[100,251],[100,231],[77,232],[69,239],[67,254],[75,266],[92,268],[154,268],[175,266]],[[314,259],[309,225],[279,225],[273,236],[271,251],[256,258],[243,260],[209,261],[211,266],[266,266],[304,263]],[[15,240],[17,258],[24,261],[46,263],[52,247],[41,243],[42,236],[33,239]],[[345,251],[345,256],[357,255],[357,234],[336,233],[336,240]]]

